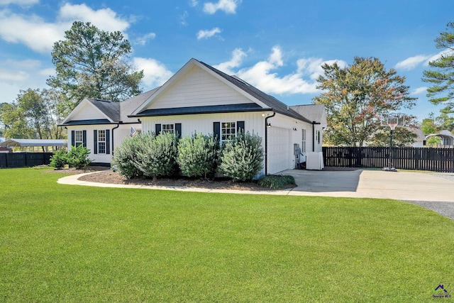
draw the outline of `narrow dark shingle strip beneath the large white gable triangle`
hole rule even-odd
[[[141,111],[140,116],[173,116],[173,115],[189,115],[189,114],[213,114],[213,113],[238,113],[241,111],[263,111],[262,107],[255,103],[243,104],[223,104],[210,106],[189,106],[176,107],[168,109],[147,109]]]

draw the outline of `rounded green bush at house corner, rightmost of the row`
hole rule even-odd
[[[234,181],[248,181],[263,167],[262,138],[249,132],[239,132],[222,150],[219,172]]]

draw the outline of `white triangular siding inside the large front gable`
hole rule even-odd
[[[189,69],[145,109],[253,103],[200,67]]]

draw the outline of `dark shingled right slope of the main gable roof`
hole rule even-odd
[[[251,96],[255,97],[255,99],[262,101],[264,104],[269,106],[270,109],[272,109],[273,111],[275,111],[279,114],[290,116],[295,119],[299,119],[301,121],[306,121],[308,123],[311,123],[311,121],[306,119],[304,116],[301,116],[293,109],[290,109],[290,107],[287,106],[287,104],[282,103],[281,101],[279,101],[275,97],[270,96],[269,94],[265,94],[260,89],[253,87],[252,85],[248,84],[247,82],[243,81],[242,79],[240,79],[238,77],[229,76],[226,73],[221,72],[220,70],[217,70],[216,68],[211,67],[210,65],[207,65],[204,62],[201,62],[201,61],[199,61],[199,62],[202,65],[208,67],[213,72],[216,72],[216,74],[218,74],[219,76],[228,80],[228,82],[231,82],[232,84],[236,85],[236,87],[243,89],[244,92],[247,92]]]

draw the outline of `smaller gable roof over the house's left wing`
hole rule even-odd
[[[152,89],[143,94],[139,94],[130,99],[126,99],[123,102],[112,102],[101,99],[84,99],[82,102],[76,106],[76,108],[65,118],[61,126],[74,126],[74,125],[94,125],[94,124],[111,124],[111,123],[138,123],[137,119],[133,119],[128,115],[133,112],[134,109],[138,108],[145,100],[150,98],[155,92],[156,89]],[[82,110],[84,104],[90,104],[94,106],[95,109],[101,112],[101,114],[106,119],[90,119],[90,120],[72,120],[72,116],[76,114],[77,109]]]

